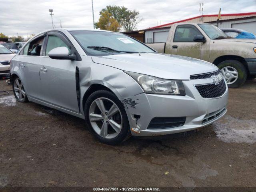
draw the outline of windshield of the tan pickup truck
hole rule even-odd
[[[207,34],[211,39],[226,39],[228,36],[220,30],[218,27],[210,24],[198,24],[200,28]]]

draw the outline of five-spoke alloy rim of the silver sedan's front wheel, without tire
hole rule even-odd
[[[120,109],[108,98],[101,97],[92,102],[89,120],[94,131],[106,139],[115,138],[122,129]]]

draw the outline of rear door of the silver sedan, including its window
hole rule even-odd
[[[42,55],[42,44],[44,35],[38,36],[18,55],[22,82],[28,96],[40,98],[39,63]]]

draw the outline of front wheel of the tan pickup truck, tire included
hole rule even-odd
[[[244,65],[236,60],[226,60],[218,64],[229,88],[238,88],[244,84],[247,78],[247,70]]]

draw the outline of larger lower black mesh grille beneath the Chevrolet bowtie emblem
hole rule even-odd
[[[206,84],[195,86],[202,98],[217,98],[222,96],[226,92],[226,83],[224,79],[219,84]]]

